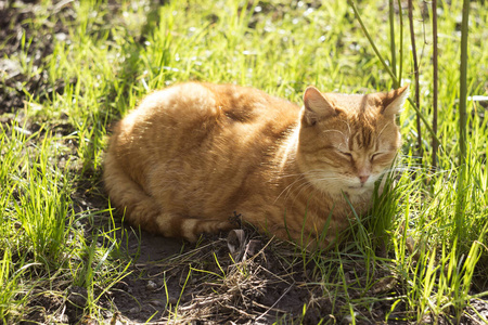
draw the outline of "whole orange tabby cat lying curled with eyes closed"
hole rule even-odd
[[[395,115],[407,95],[407,86],[367,95],[309,87],[300,108],[231,84],[156,91],[115,128],[106,191],[126,220],[164,236],[235,227],[235,211],[271,235],[328,246],[352,216],[345,196],[358,214],[370,208],[400,146]]]

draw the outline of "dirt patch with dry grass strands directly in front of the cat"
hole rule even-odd
[[[251,229],[183,247],[178,240],[141,235],[144,253],[113,290],[120,321],[143,323],[152,316],[153,324],[348,322],[339,316],[345,299],[324,295],[316,264],[291,244],[270,240]],[[361,273],[359,269],[348,273],[356,271]],[[349,295],[359,297],[359,291]],[[373,313],[358,310],[357,324],[384,320],[390,304],[380,302]]]

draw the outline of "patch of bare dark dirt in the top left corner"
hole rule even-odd
[[[52,23],[39,17],[40,6],[39,1],[0,0],[0,115],[24,107],[24,91],[36,94],[42,102],[64,90],[65,80],[49,81],[42,67],[46,56],[54,50],[53,39],[69,41],[67,28],[62,20]],[[53,3],[49,15],[72,21],[73,1]],[[33,23],[38,27],[31,28]]]

